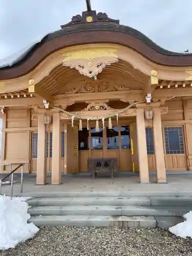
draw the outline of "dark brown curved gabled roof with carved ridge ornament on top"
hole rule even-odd
[[[92,20],[87,21],[87,17]],[[75,45],[113,43],[130,47],[147,59],[169,67],[192,66],[192,54],[167,51],[156,45],[150,38],[136,29],[119,25],[119,20],[105,13],[86,11],[72,17],[72,21],[61,29],[48,34],[30,48],[12,66],[0,68],[0,80],[11,79],[27,74],[51,53]]]

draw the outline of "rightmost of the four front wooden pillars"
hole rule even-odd
[[[157,183],[166,183],[166,170],[165,170],[165,158],[164,158],[160,108],[153,109],[153,133],[154,133]]]

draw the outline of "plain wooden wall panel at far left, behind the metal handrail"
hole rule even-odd
[[[13,168],[24,163],[24,172],[30,171],[31,110],[26,108],[7,108],[4,115],[1,163],[12,163]],[[1,168],[9,172],[9,168]],[[20,169],[17,171],[20,173]]]

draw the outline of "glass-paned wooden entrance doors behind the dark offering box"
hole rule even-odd
[[[79,172],[88,172],[88,158],[117,158],[119,170],[132,170],[130,126],[116,124],[99,131],[90,124],[78,132]]]

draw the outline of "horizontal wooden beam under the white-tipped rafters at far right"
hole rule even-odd
[[[192,96],[192,88],[157,89],[152,93],[153,98]]]

